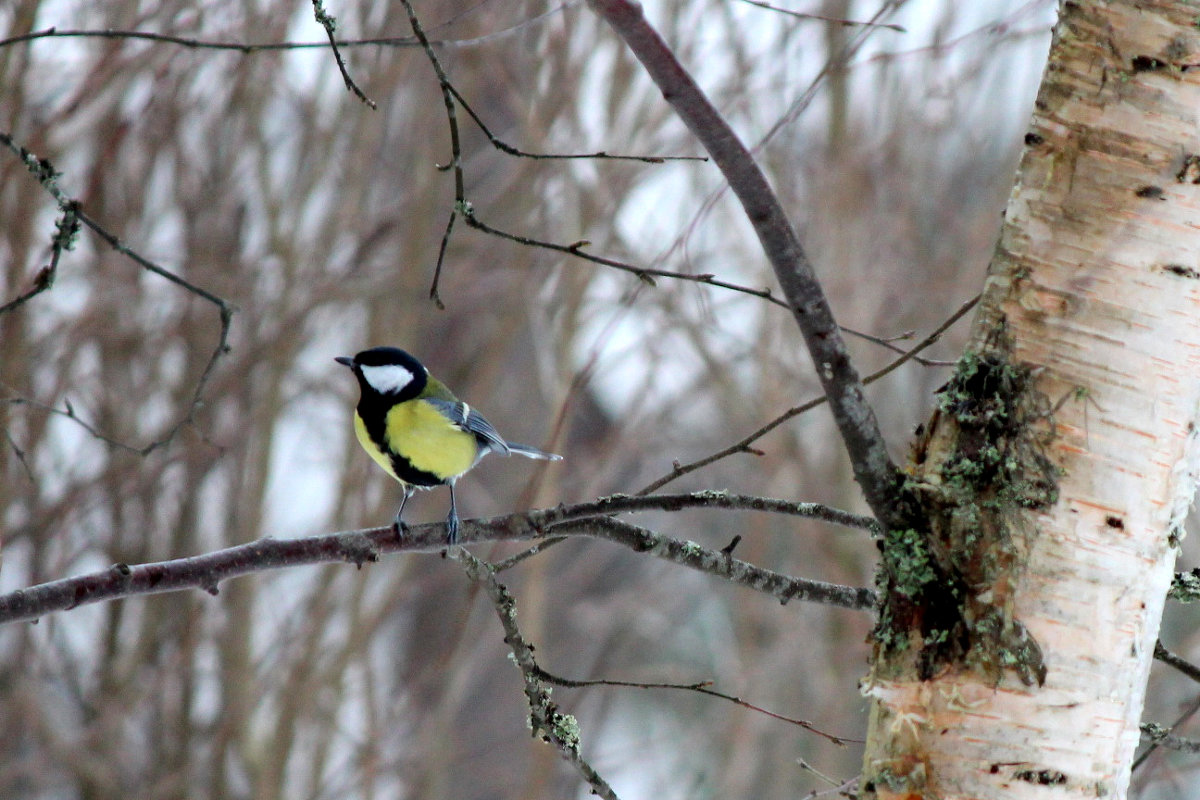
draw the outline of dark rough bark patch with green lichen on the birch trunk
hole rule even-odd
[[[1028,512],[1057,500],[1051,409],[1034,378],[997,336],[938,390],[906,486],[912,524],[880,542],[877,672],[914,658],[925,679],[955,666],[994,681],[1045,679],[1042,650],[1012,610]]]

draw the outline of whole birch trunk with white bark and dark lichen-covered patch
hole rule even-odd
[[[1193,2],[1061,4],[970,350],[893,531],[863,796],[1122,798],[1200,402]]]

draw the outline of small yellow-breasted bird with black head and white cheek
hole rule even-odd
[[[404,504],[416,489],[450,487],[446,541],[458,539],[454,485],[490,452],[562,461],[562,456],[505,441],[492,423],[433,378],[420,361],[398,348],[377,347],[353,359],[337,356],[354,372],[362,391],[354,433],[367,455],[404,487],[392,527],[403,530]]]

